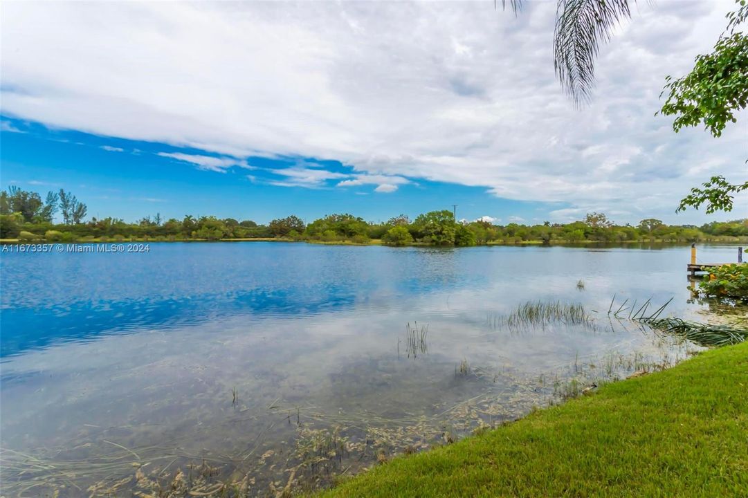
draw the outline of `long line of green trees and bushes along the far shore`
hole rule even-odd
[[[589,213],[583,220],[557,224],[506,225],[489,221],[456,221],[449,210],[432,211],[411,221],[399,215],[384,222],[366,221],[350,214],[334,214],[305,224],[296,215],[278,218],[269,224],[215,216],[164,220],[160,214],[135,223],[120,218],[91,218],[76,196],[60,190],[40,194],[16,186],[0,193],[0,239],[23,241],[76,242],[86,240],[236,240],[279,239],[307,242],[349,242],[385,245],[470,246],[484,244],[524,244],[568,242],[735,242],[748,239],[748,219],[714,221],[701,227],[668,225],[647,218],[633,226],[615,224],[603,213]],[[55,222],[60,215],[62,223]],[[57,218],[59,219],[59,218]]]

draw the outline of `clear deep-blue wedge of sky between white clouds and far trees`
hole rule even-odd
[[[159,212],[164,218],[216,215],[264,223],[289,214],[313,221],[333,212],[351,212],[379,221],[401,213],[414,218],[421,212],[452,209],[452,204],[457,204],[459,218],[491,216],[509,223],[520,218],[543,221],[549,210],[562,206],[500,199],[485,188],[423,179],[408,179],[407,184],[391,192],[376,191],[376,183],[337,186],[361,174],[340,162],[313,158],[248,157],[238,161],[241,166],[206,169],[184,159],[195,160],[197,156],[226,160],[226,156],[49,130],[39,123],[9,117],[2,120],[2,187],[17,185],[38,191],[42,197],[46,191],[64,188],[87,203],[89,215],[96,217],[111,215],[132,221]],[[183,154],[177,157],[184,159],[165,154]],[[236,159],[227,160],[233,161]],[[289,179],[277,173],[279,170],[322,171],[335,177]]]

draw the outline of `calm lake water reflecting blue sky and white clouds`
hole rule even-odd
[[[705,320],[689,258],[266,242],[4,254],[3,491],[126,496],[133,464],[164,477],[203,461],[258,496],[289,477],[324,485],[686,357],[698,348],[607,312],[613,295],[614,310],[672,298],[664,314]],[[527,301],[591,318],[510,325]]]

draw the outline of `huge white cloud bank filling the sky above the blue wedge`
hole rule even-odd
[[[554,4],[513,16],[468,2],[8,2],[1,98],[49,126],[632,217],[679,219],[713,171],[745,179],[746,112],[720,139],[654,117],[665,76],[711,49],[732,0],[640,5],[602,47],[581,110],[554,76]]]

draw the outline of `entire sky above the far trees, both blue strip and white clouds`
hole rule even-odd
[[[637,4],[589,105],[554,74],[551,1],[7,2],[0,186],[91,215],[702,224],[694,185],[748,178],[747,111],[719,139],[655,116],[732,0]]]

